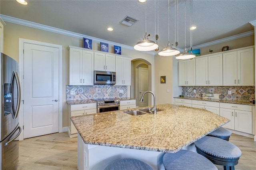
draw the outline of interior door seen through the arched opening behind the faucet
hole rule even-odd
[[[140,102],[140,99],[142,97],[142,94],[145,91],[148,91],[148,68],[142,68],[139,67],[139,75],[138,75],[138,92],[139,92],[139,107],[145,107],[148,106],[148,93],[146,93],[143,97],[143,101]]]

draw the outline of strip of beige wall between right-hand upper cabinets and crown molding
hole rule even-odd
[[[213,50],[212,53],[221,52],[221,49],[224,46],[228,46],[229,49],[236,49],[236,48],[248,47],[251,45],[254,45],[254,35],[200,48],[200,55],[210,54],[209,49]]]

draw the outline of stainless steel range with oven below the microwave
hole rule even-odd
[[[120,110],[120,100],[108,99],[92,99],[97,102],[97,113],[118,111]]]

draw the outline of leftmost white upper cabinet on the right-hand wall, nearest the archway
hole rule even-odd
[[[194,59],[178,61],[179,86],[196,85],[196,63]]]

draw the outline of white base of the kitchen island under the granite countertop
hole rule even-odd
[[[182,149],[196,152],[194,144]],[[120,158],[135,158],[146,162],[154,170],[164,170],[163,156],[164,152],[85,144],[78,134],[78,170],[102,170]]]

